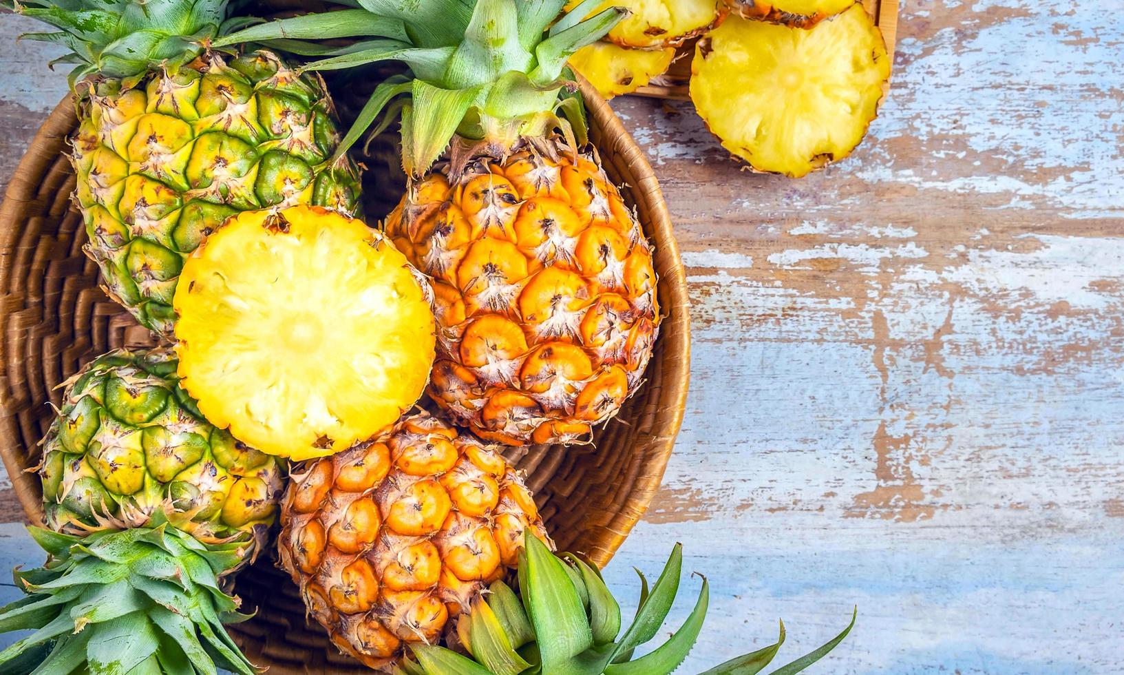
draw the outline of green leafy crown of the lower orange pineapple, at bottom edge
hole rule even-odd
[[[519,593],[495,582],[456,624],[456,636],[468,656],[444,647],[411,644],[414,660],[404,662],[397,675],[651,675],[671,673],[682,664],[698,639],[706,616],[706,577],[695,609],[662,645],[633,659],[634,650],[663,626],[679,591],[682,547],[676,544],[663,572],[649,588],[641,578],[640,605],[622,632],[620,605],[600,572],[573,554],[554,556],[529,532],[519,555]],[[843,641],[851,623],[818,649],[782,666],[772,675],[794,675],[819,660]],[[777,655],[785,642],[785,624],[776,644],[716,666],[701,675],[753,675]]]

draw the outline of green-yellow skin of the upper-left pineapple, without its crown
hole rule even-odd
[[[277,54],[208,53],[75,99],[75,201],[107,294],[170,335],[183,259],[227,217],[315,204],[353,214],[354,164],[320,165],[338,130],[323,81]]]

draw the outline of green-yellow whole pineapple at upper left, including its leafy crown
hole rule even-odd
[[[184,256],[238,212],[316,204],[355,210],[359,180],[329,163],[338,134],[323,81],[260,50],[205,45],[227,0],[0,2],[61,33],[80,126],[72,140],[87,253],[106,292],[169,335]]]

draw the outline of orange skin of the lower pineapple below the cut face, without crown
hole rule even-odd
[[[425,412],[296,469],[281,524],[280,564],[309,613],[372,668],[452,629],[516,566],[525,530],[550,541],[497,448]]]

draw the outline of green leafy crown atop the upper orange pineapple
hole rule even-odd
[[[379,61],[407,64],[413,76],[396,75],[374,89],[336,158],[386,111],[377,130],[401,117],[402,166],[410,176],[432,166],[454,136],[484,142],[499,152],[520,136],[541,136],[554,128],[583,140],[584,114],[565,62],[626,12],[613,7],[583,18],[601,0],[584,0],[561,17],[566,0],[359,3],[362,9],[255,25],[215,44],[253,40],[326,56],[303,70],[342,70]],[[364,39],[330,48],[300,39],[305,37]]]

